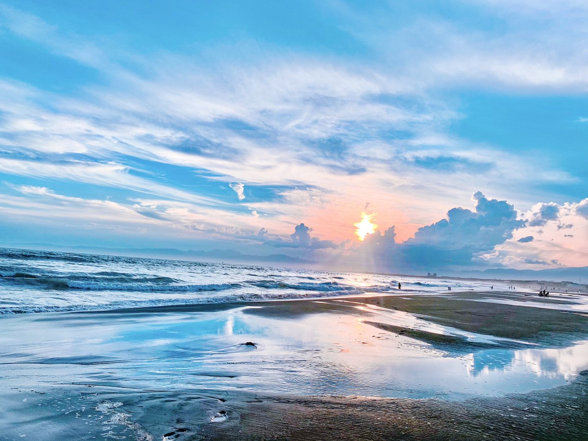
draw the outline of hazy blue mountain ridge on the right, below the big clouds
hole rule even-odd
[[[468,270],[459,272],[443,272],[443,275],[471,277],[480,279],[507,279],[507,280],[553,280],[553,282],[588,282],[588,266],[577,268],[550,268],[550,269],[508,269],[496,268],[485,270]]]

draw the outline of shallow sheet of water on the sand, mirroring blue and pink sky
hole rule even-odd
[[[12,316],[2,320],[0,384],[25,382],[35,388],[38,380],[42,385],[457,399],[563,385],[588,368],[588,342],[563,349],[517,342],[521,349],[504,349],[500,343],[507,339],[405,312],[340,303],[360,314],[320,312],[284,320],[252,314],[256,307],[245,306]],[[496,349],[447,353],[382,331],[366,323],[370,320],[462,335]]]

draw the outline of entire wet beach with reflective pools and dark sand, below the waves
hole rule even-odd
[[[1,319],[0,439],[586,439],[588,298],[399,293]]]

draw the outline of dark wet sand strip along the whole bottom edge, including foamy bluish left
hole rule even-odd
[[[143,441],[588,439],[586,371],[550,390],[460,401],[100,386],[81,394],[72,386],[60,390],[14,391],[15,405],[45,404],[36,415],[21,413],[28,433],[36,426],[43,434],[27,439],[91,440],[95,429]]]

